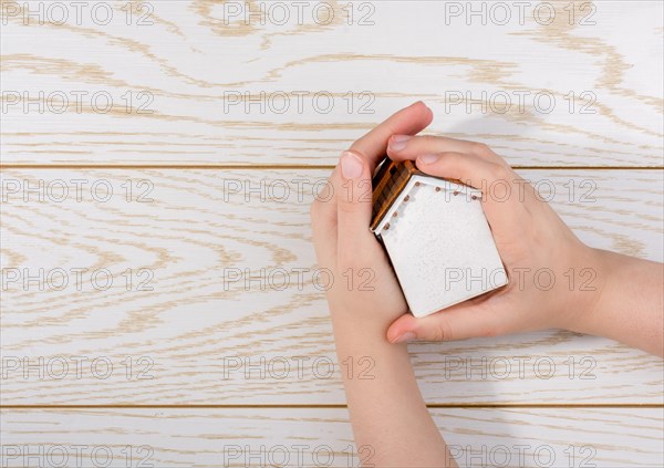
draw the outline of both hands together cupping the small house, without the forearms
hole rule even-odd
[[[329,179],[333,194],[320,194],[312,204],[319,266],[333,272],[326,292],[331,313],[392,343],[574,330],[596,306],[604,283],[594,249],[486,145],[413,136],[432,119],[432,111],[418,102],[357,139]],[[423,319],[408,313],[387,256],[369,229],[371,179],[385,154],[483,190],[483,208],[510,277],[506,288]],[[580,288],[584,275],[592,283]]]

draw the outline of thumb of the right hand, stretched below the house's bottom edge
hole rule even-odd
[[[407,313],[396,319],[387,330],[391,343],[409,340],[453,341],[477,336],[494,336],[498,327],[494,314],[479,305],[458,304],[435,314],[417,319]]]

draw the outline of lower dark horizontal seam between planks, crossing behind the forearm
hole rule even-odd
[[[658,403],[496,403],[496,404],[428,404],[428,408],[654,408],[664,409],[664,404]],[[346,405],[0,405],[3,409],[344,409]]]

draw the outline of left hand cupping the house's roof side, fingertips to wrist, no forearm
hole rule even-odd
[[[323,190],[311,206],[319,267],[328,269],[322,271],[330,271],[334,281],[326,291],[333,319],[367,333],[374,330],[382,340],[390,323],[408,308],[383,248],[370,231],[371,178],[391,135],[415,134],[430,121],[430,110],[416,103],[357,139],[329,179],[333,197]]]

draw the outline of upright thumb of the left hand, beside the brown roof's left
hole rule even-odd
[[[340,163],[336,195],[336,250],[341,266],[352,266],[375,248],[370,231],[372,214],[371,170],[366,160],[354,152],[344,152]]]

